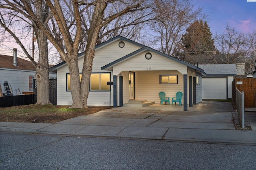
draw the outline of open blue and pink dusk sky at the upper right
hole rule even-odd
[[[247,2],[254,1],[254,2]],[[224,32],[226,23],[243,33],[256,30],[256,0],[193,0],[208,14],[213,35]]]

